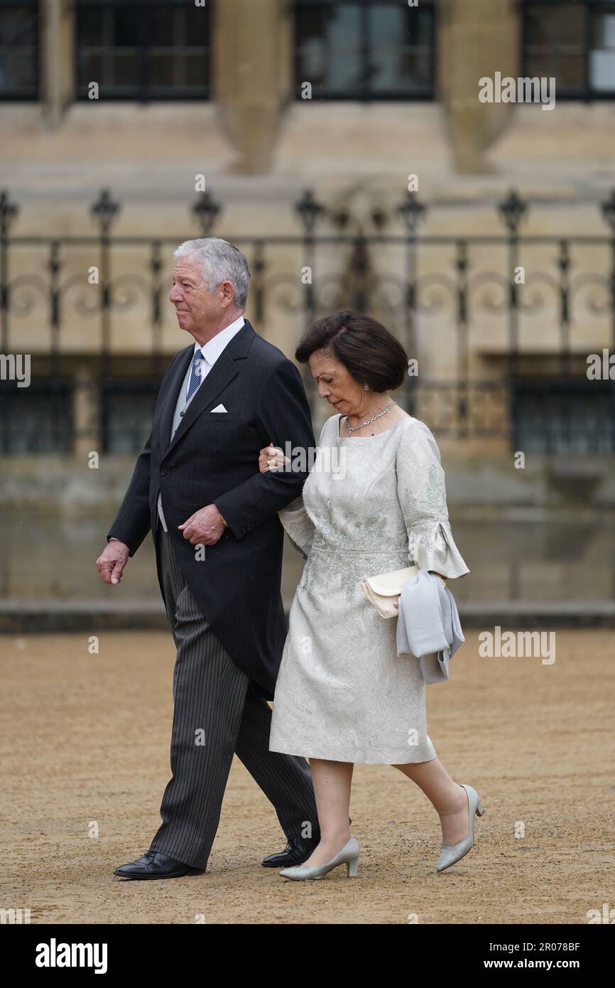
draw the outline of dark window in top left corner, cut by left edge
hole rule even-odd
[[[0,99],[38,99],[38,3],[0,0]]]

